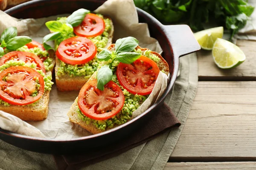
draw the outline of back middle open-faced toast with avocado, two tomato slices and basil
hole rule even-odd
[[[112,43],[111,18],[79,9],[69,17],[47,22],[46,26],[53,33],[44,42],[55,40],[58,90],[80,90],[99,66],[97,52]],[[46,43],[44,47],[50,48]]]

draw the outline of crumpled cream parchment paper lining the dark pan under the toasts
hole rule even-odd
[[[116,39],[122,37],[132,36],[140,41],[141,47],[149,48],[152,51],[156,51],[158,53],[162,52],[162,49],[157,40],[150,37],[147,24],[138,23],[137,11],[133,0],[108,0],[98,9],[96,9],[95,12],[108,15],[113,20],[113,42],[115,42]],[[26,35],[31,37],[33,40],[42,42],[42,38],[46,34],[49,34],[49,30],[44,23],[49,20],[56,20],[57,17],[61,16],[67,16],[67,14],[41,19],[17,20],[13,17],[10,17],[3,11],[0,11],[0,33],[10,26],[15,26],[17,27],[19,35]],[[158,99],[158,97],[163,94],[166,86],[167,76],[160,72],[152,93],[148,99],[146,99],[143,105],[137,109],[133,116],[135,117],[140,115],[150,105],[152,105],[156,99]],[[49,113],[46,120],[40,122],[28,122],[30,125],[34,126],[31,127],[29,124],[19,120],[19,118],[15,116],[0,112],[0,127],[28,136],[36,136],[37,134],[41,134],[40,131],[37,130],[39,129],[43,133],[41,134],[41,137],[45,136],[47,138],[55,139],[71,139],[90,135],[87,130],[84,130],[78,125],[73,125],[73,123],[71,123],[67,117],[67,112],[69,111],[78,94],[79,91],[57,91],[56,85],[53,85],[52,91],[50,93]],[[9,119],[9,121],[3,121],[6,119]],[[11,124],[11,122],[15,122],[15,126],[12,126],[14,124]],[[26,128],[26,130],[22,130],[23,128]],[[31,131],[27,130],[27,128],[30,128]]]

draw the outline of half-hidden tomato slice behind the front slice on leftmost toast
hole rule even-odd
[[[45,73],[44,63],[41,61],[39,57],[37,57],[35,54],[25,52],[25,51],[12,51],[7,54],[5,54],[0,59],[0,65],[5,64],[9,60],[22,60],[23,62],[26,62],[27,64],[35,63],[37,65],[37,70],[42,70]]]

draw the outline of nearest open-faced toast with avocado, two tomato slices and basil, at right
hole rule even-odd
[[[71,122],[101,133],[132,119],[132,113],[151,94],[162,71],[169,73],[160,54],[140,48],[134,37],[116,41],[101,51],[99,69],[81,88],[67,113]]]

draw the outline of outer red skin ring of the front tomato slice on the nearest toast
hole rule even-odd
[[[110,81],[107,83],[107,85],[111,86],[111,85],[115,85],[116,86],[116,92],[118,92],[119,97],[117,99],[117,101],[119,102],[119,105],[116,106],[116,108],[114,108],[112,111],[108,112],[108,113],[103,113],[103,114],[96,114],[95,112],[91,112],[85,105],[84,105],[84,96],[85,96],[85,92],[91,88],[91,87],[97,87],[97,79],[95,80],[91,80],[89,82],[87,82],[80,90],[79,92],[79,96],[78,96],[78,106],[79,109],[81,110],[81,112],[91,118],[91,119],[95,119],[95,120],[106,120],[109,119],[113,116],[115,116],[117,113],[119,113],[119,111],[121,111],[124,102],[125,102],[125,97],[124,94],[121,90],[121,88],[119,88],[119,86],[114,83],[113,81]],[[106,85],[105,85],[106,86]]]

